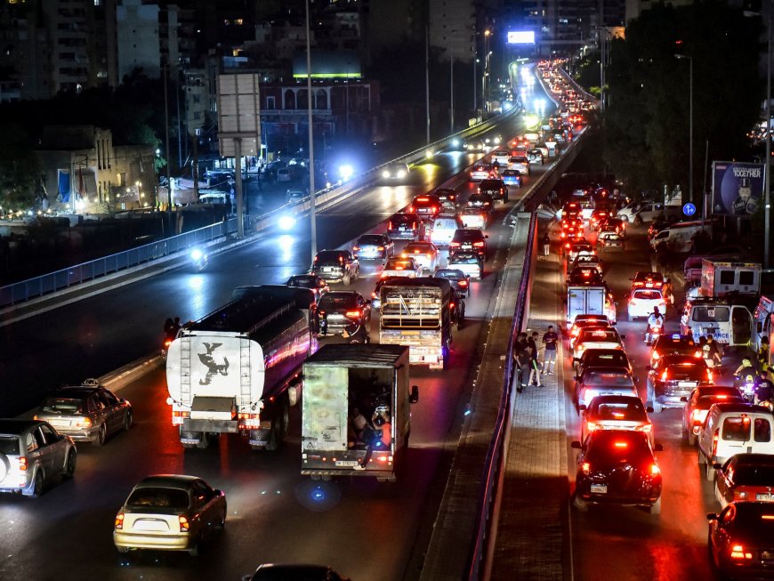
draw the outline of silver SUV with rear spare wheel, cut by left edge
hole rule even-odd
[[[75,442],[37,420],[0,419],[0,492],[36,498],[76,472]]]

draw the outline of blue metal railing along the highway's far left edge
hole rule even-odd
[[[192,246],[224,238],[237,231],[237,219],[229,220],[137,246],[93,261],[82,262],[40,277],[28,278],[12,285],[0,286],[0,307],[23,303],[38,296],[49,295],[88,280],[104,277],[150,261],[188,250]]]

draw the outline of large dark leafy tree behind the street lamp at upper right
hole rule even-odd
[[[656,4],[614,40],[605,111],[605,158],[635,190],[681,183],[688,190],[689,66],[692,58],[694,196],[709,160],[746,159],[746,133],[760,115],[760,18],[720,0]],[[696,198],[695,198],[696,199]]]

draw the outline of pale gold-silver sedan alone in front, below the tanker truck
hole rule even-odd
[[[132,549],[187,551],[226,524],[226,495],[196,476],[149,476],[132,489],[116,515],[113,544]]]

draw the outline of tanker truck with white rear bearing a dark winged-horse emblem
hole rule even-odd
[[[283,297],[246,296],[189,327],[169,347],[167,403],[186,448],[239,432],[254,449],[285,438],[293,383],[316,351],[309,314]]]

